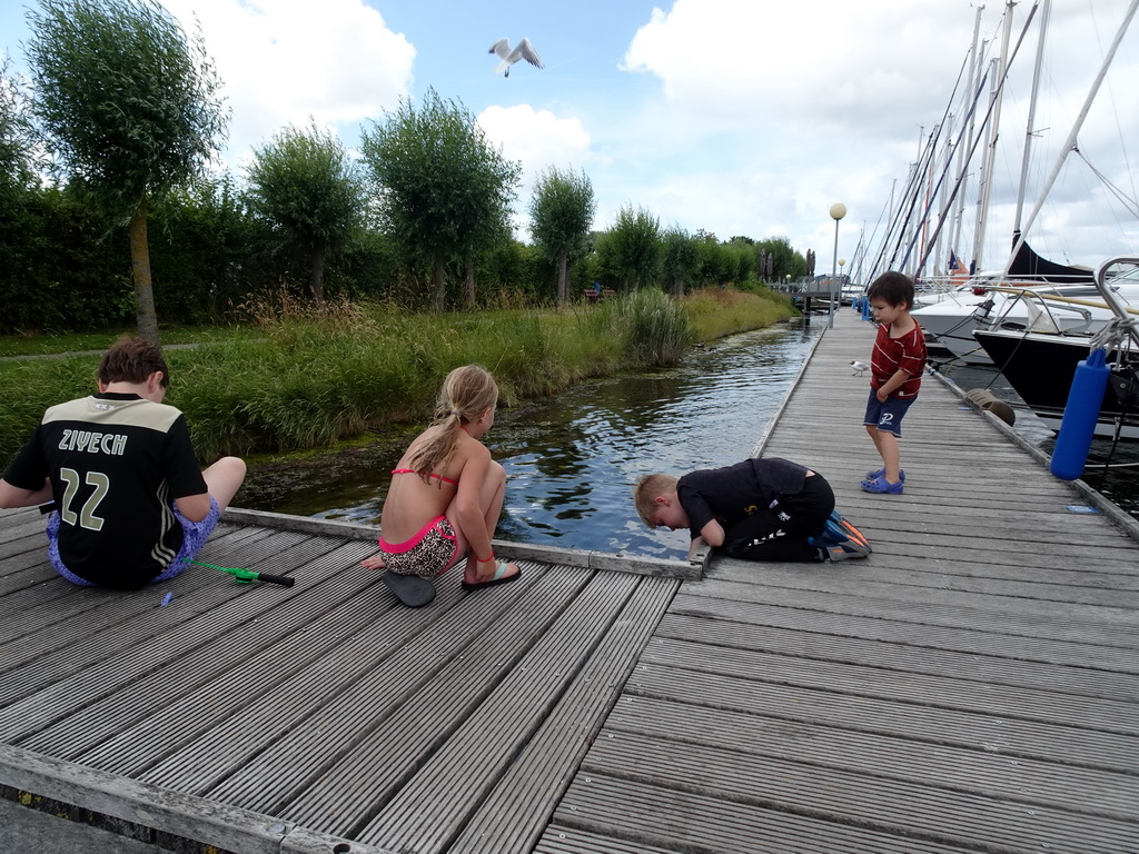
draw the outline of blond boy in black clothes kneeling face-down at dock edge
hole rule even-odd
[[[817,471],[778,457],[672,475],[646,475],[633,502],[650,528],[688,528],[688,559],[705,544],[743,560],[865,558],[870,544],[835,511],[835,493]]]

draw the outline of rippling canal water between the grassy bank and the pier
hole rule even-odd
[[[683,531],[650,531],[641,475],[748,457],[826,323],[801,319],[696,348],[675,368],[584,383],[500,409],[485,437],[507,473],[501,540],[682,558]],[[236,506],[378,524],[391,469],[424,425],[286,465],[252,466]]]

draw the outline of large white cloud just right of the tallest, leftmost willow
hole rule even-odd
[[[206,50],[232,109],[229,159],[287,124],[359,124],[408,95],[416,50],[362,0],[165,0]]]

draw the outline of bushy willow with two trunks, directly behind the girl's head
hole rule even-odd
[[[418,109],[404,99],[383,123],[364,130],[360,154],[404,257],[431,264],[433,301],[443,311],[448,260],[461,256],[469,271],[474,252],[499,239],[521,166],[486,140],[461,104],[434,89]],[[468,280],[469,301],[469,273]]]

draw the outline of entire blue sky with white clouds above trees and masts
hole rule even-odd
[[[1025,219],[1136,0],[1055,0],[1033,123]],[[24,63],[26,7],[0,0],[0,48]],[[596,228],[622,205],[662,227],[721,239],[786,237],[813,249],[818,270],[861,241],[871,255],[911,164],[966,106],[966,55],[977,7],[967,0],[165,0],[199,22],[232,109],[227,162],[247,162],[287,124],[311,116],[352,147],[361,126],[428,88],[477,116],[519,161],[519,235],[535,178],[583,170],[598,199]],[[1013,11],[1014,46],[1033,7]],[[995,57],[1005,7],[980,14]],[[494,75],[490,46],[527,36],[546,67]],[[1039,28],[1010,71],[991,172],[983,266],[1009,248]],[[988,67],[988,63],[985,64]],[[1052,260],[1095,265],[1139,253],[1139,22],[1123,39],[1070,156],[1029,232]],[[984,105],[982,105],[982,109]],[[1132,150],[1128,150],[1126,143]],[[984,150],[984,145],[978,150]],[[939,157],[944,156],[939,149]],[[968,169],[958,252],[973,255],[977,175]],[[1097,173],[1103,178],[1097,176]],[[956,175],[956,169],[952,174]],[[943,262],[942,262],[943,263]]]

